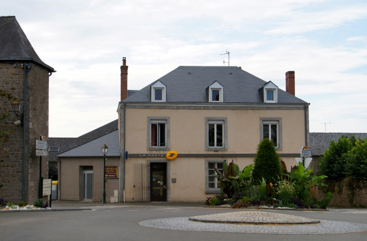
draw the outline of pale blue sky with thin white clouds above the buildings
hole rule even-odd
[[[141,89],[181,65],[230,65],[311,103],[310,132],[367,132],[366,1],[4,1],[50,77],[49,136],[118,118],[120,66]]]

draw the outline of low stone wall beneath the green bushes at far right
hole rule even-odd
[[[332,192],[333,198],[329,203],[332,207],[367,207],[367,180],[346,178],[340,182],[329,181],[328,191]],[[325,197],[325,192],[319,187],[317,199]]]

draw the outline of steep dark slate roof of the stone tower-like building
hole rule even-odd
[[[37,55],[15,16],[0,17],[0,60],[29,60],[56,72]]]

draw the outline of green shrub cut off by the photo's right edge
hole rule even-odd
[[[367,178],[367,143],[357,140],[355,147],[345,156],[346,171],[349,177]]]

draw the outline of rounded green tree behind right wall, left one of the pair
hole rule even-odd
[[[325,150],[324,155],[318,162],[322,175],[331,180],[341,180],[346,177],[345,154],[353,148],[353,143],[348,137],[339,137],[338,142],[331,141],[330,147]]]

